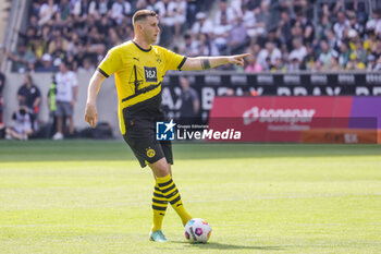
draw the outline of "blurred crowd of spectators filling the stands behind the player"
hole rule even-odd
[[[63,59],[75,72],[93,72],[108,49],[133,38],[133,13],[150,9],[160,19],[159,45],[189,57],[250,52],[246,72],[381,70],[381,10],[332,2],[33,0],[8,57],[19,72],[58,71]]]

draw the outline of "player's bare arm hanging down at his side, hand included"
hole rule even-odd
[[[88,122],[93,128],[95,128],[95,124],[98,121],[96,99],[97,99],[97,94],[100,89],[100,85],[102,84],[103,80],[105,80],[105,76],[100,72],[95,71],[87,88],[85,121]]]

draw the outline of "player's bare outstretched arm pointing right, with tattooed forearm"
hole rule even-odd
[[[223,65],[226,63],[237,64],[244,66],[244,58],[249,56],[249,53],[242,53],[235,56],[225,56],[225,57],[197,57],[197,58],[187,58],[182,71],[201,71]]]

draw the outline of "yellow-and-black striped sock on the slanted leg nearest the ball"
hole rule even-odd
[[[167,197],[167,201],[171,203],[173,209],[177,213],[177,215],[183,221],[183,225],[185,226],[186,222],[188,222],[192,219],[192,216],[185,210],[180,196],[180,192],[176,185],[174,184],[171,174],[168,174],[163,178],[157,178],[156,180],[160,191]]]

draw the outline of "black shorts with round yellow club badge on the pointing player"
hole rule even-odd
[[[126,130],[123,135],[124,141],[134,152],[142,168],[164,157],[169,164],[173,165],[171,142],[156,140],[156,122],[163,121],[162,114],[142,117],[128,113],[124,109],[123,118]]]

